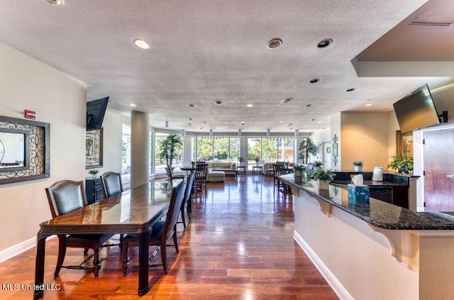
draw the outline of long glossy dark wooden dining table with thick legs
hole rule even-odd
[[[44,295],[45,239],[57,234],[128,234],[139,240],[138,295],[150,290],[148,284],[148,242],[153,225],[169,209],[172,188],[182,179],[156,182],[123,191],[102,201],[65,213],[40,224],[36,243],[35,289],[33,298]],[[118,270],[121,272],[121,270]],[[102,276],[102,275],[101,275]]]

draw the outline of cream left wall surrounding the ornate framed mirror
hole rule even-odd
[[[50,123],[50,178],[0,184],[1,261],[13,246],[33,246],[51,218],[45,188],[85,177],[87,85],[1,43],[0,70],[0,115],[23,118],[28,109]]]

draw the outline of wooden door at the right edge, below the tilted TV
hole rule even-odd
[[[454,211],[454,129],[423,136],[425,211]]]

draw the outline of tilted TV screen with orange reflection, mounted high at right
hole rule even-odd
[[[394,112],[403,133],[440,123],[427,84],[394,103]]]

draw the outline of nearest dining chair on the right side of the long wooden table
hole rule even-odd
[[[157,252],[161,250],[162,267],[164,268],[165,274],[169,274],[169,268],[167,267],[167,241],[170,240],[170,238],[173,238],[175,249],[177,250],[177,252],[179,252],[177,241],[177,221],[179,211],[181,210],[182,203],[184,201],[185,187],[186,182],[182,181],[177,185],[177,187],[174,187],[172,189],[169,210],[167,211],[165,221],[157,221],[150,233],[150,242],[148,243],[148,245],[157,246],[157,249],[151,255],[150,260],[148,261],[148,266],[158,266],[157,264],[150,264],[150,262],[153,260],[153,258],[155,258]],[[128,249],[130,247],[138,247],[138,245],[138,239],[133,237],[132,235],[126,235],[126,237],[123,239],[123,275],[125,276],[126,274],[128,274]],[[135,265],[134,267],[138,267],[138,265]]]

